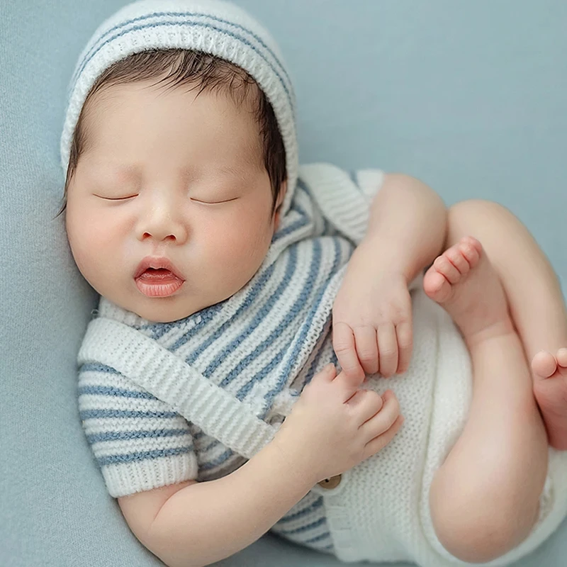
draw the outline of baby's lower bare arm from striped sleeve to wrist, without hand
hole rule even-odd
[[[137,539],[167,566],[200,567],[259,539],[320,480],[312,466],[290,462],[271,442],[218,480],[169,485],[118,503]]]

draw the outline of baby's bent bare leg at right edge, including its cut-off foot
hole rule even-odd
[[[500,276],[528,363],[549,444],[567,449],[567,310],[561,286],[529,230],[498,203],[463,201],[449,209],[448,240],[478,238]],[[541,352],[545,351],[545,352]]]

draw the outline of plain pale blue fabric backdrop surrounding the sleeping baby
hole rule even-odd
[[[237,0],[296,79],[301,161],[490,198],[567,277],[567,3]],[[0,565],[159,565],[108,497],[79,423],[75,357],[96,300],[62,219],[74,63],[123,0],[0,2]],[[534,298],[537,301],[537,298]],[[563,567],[567,524],[522,567]],[[224,566],[336,566],[264,537]]]

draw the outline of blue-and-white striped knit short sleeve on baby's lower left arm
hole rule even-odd
[[[79,415],[114,498],[197,478],[186,419],[116,370],[79,369]]]

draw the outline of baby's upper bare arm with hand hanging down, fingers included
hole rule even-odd
[[[446,233],[447,208],[437,193],[407,175],[385,176],[333,305],[333,347],[347,374],[408,369],[408,284],[442,252]]]

